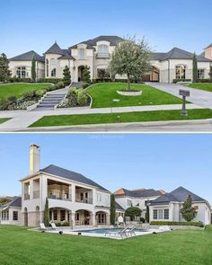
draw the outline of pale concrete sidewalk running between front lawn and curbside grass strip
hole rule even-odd
[[[202,109],[201,106],[188,104],[188,109]],[[73,114],[93,114],[93,113],[121,113],[121,112],[139,112],[156,110],[181,110],[181,104],[174,105],[155,105],[155,106],[136,106],[119,108],[90,109],[72,108],[43,111],[0,111],[0,118],[13,118],[0,124],[0,131],[16,131],[28,128],[32,123],[41,119],[43,116],[51,115],[73,115]]]

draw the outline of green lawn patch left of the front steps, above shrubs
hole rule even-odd
[[[23,92],[31,90],[40,90],[48,87],[49,83],[45,84],[29,84],[29,83],[13,83],[0,84],[0,99],[6,99],[9,96],[20,97]]]

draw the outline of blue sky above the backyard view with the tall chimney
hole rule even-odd
[[[40,165],[56,164],[108,190],[183,186],[212,203],[212,135],[1,134],[0,195],[21,194],[29,146],[40,145]]]

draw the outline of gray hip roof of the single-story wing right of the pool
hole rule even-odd
[[[189,195],[191,196],[193,202],[207,201],[206,199],[202,199],[198,195],[192,193],[190,190],[179,187],[178,189],[173,190],[170,193],[163,194],[158,199],[155,199],[151,202],[151,205],[167,205],[171,201],[184,202]]]

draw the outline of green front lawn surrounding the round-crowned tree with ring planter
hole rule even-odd
[[[131,89],[143,91],[140,96],[122,96],[117,93],[119,89],[126,89],[127,84],[123,83],[102,83],[94,84],[87,89],[87,93],[93,98],[92,108],[145,106],[180,104],[181,99],[164,93],[146,84],[132,84]],[[119,100],[119,102],[114,102]]]

